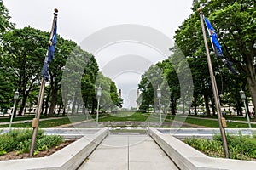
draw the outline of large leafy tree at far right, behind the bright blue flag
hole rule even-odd
[[[207,4],[206,10],[208,9],[210,9],[208,18],[213,21],[216,31],[218,31],[224,54],[236,65],[241,75],[247,77],[248,89],[256,111],[255,3],[249,0],[214,1]]]

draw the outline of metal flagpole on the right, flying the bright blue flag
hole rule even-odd
[[[212,61],[211,61],[209,48],[208,48],[208,44],[207,44],[207,34],[206,34],[204,21],[203,21],[202,8],[199,8],[198,11],[199,11],[199,14],[200,14],[201,29],[202,29],[202,32],[203,32],[205,47],[206,47],[206,51],[207,51],[207,61],[208,61],[208,67],[209,67],[210,77],[211,77],[211,81],[212,81],[212,91],[213,91],[214,100],[215,100],[217,113],[218,113],[218,126],[219,126],[221,137],[222,137],[225,157],[229,158],[229,149],[228,149],[226,134],[225,134],[225,130],[224,130],[224,127],[226,127],[226,125],[225,125],[224,117],[222,117],[222,115],[221,115],[220,102],[219,102],[219,98],[218,98],[218,88],[217,88],[216,80],[215,80],[215,77],[214,77],[214,74],[213,74]]]

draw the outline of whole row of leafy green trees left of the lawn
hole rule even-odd
[[[18,90],[20,94],[17,101],[18,115],[21,116],[27,107],[32,108],[33,105],[37,105],[41,69],[49,42],[49,32],[39,31],[31,26],[15,29],[15,25],[9,22],[9,12],[2,1],[0,8],[0,109],[7,111],[11,108],[14,92]],[[63,77],[64,73],[71,71],[70,68],[72,68],[66,64],[68,60],[72,61],[69,63],[75,69],[68,75],[69,77]],[[121,106],[122,100],[118,97],[114,82],[99,72],[94,56],[79,48],[72,40],[57,37],[55,59],[49,64],[49,68],[50,80],[44,92],[45,115],[53,116],[56,112],[60,113],[61,109],[65,114],[67,108],[74,114],[81,106],[93,112],[96,107],[97,79],[102,87],[106,84],[110,87],[103,88],[102,106],[104,108],[106,108],[105,105],[111,108],[113,105]],[[76,70],[80,71],[77,73]],[[61,94],[63,83],[70,81],[73,81],[73,87],[69,86],[68,89],[66,88],[66,94],[63,92]],[[75,83],[80,84],[80,89],[76,89]],[[83,96],[82,101],[76,99],[78,92]],[[62,98],[63,96],[65,97]]]

